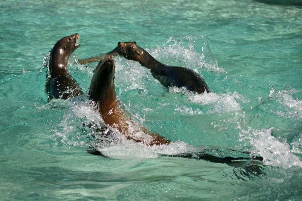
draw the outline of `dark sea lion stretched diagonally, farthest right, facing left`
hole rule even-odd
[[[153,58],[136,42],[119,42],[117,50],[126,59],[137,61],[150,69],[153,77],[165,87],[186,87],[187,90],[198,94],[211,92],[200,74],[189,68],[165,65]]]

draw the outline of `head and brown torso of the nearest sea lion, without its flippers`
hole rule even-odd
[[[171,141],[165,137],[157,133],[150,133],[143,127],[140,127],[138,131],[130,131],[133,130],[134,123],[120,107],[115,92],[114,73],[114,58],[107,56],[96,66],[90,83],[89,98],[93,104],[97,105],[104,122],[110,127],[116,128],[127,139],[133,139],[136,142],[143,142],[150,146],[170,143]]]

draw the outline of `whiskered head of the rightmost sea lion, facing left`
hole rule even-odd
[[[140,46],[137,46],[135,41],[118,42],[117,50],[124,58],[134,61],[140,61],[141,56],[144,54],[144,50]]]

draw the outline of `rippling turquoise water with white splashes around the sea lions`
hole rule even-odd
[[[1,200],[301,200],[301,7],[252,0],[0,2]],[[86,94],[51,100],[43,58],[80,34],[69,70]],[[137,124],[175,141],[100,145],[84,122],[96,63],[77,58],[137,41],[169,65],[202,74],[211,94],[165,89],[138,63],[116,58],[116,92]],[[47,57],[47,56],[46,56]],[[41,72],[41,74],[39,74]],[[84,120],[83,120],[84,119]],[[263,156],[263,173],[157,157],[212,145]]]

